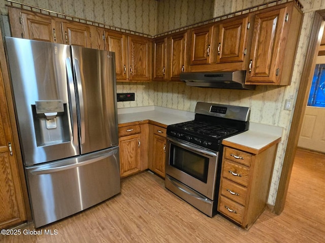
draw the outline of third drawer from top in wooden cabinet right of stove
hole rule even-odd
[[[232,181],[221,178],[221,194],[245,206],[247,188]]]

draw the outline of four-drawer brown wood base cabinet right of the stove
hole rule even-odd
[[[248,229],[266,208],[277,143],[256,154],[223,148],[218,212]]]

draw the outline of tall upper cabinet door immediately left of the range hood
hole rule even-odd
[[[169,42],[169,72],[171,80],[179,80],[179,74],[187,71],[186,67],[187,32],[175,34],[168,38]]]

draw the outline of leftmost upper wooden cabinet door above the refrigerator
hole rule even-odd
[[[61,43],[61,41],[57,42],[55,20],[51,17],[40,17],[32,13],[21,13],[21,24],[23,29],[23,37],[26,39]],[[58,29],[58,31],[61,30]]]

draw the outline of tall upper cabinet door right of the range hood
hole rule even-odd
[[[286,7],[255,15],[247,82],[274,83],[279,74]],[[282,50],[284,51],[284,50]]]

